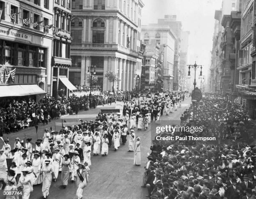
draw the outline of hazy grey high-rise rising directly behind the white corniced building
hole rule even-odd
[[[173,90],[178,91],[181,89],[181,70],[180,70],[180,47],[181,47],[181,33],[182,23],[177,21],[176,15],[164,15],[164,19],[158,19],[159,25],[168,25],[172,32],[176,35],[175,40],[175,51],[174,51],[174,79],[173,79]]]

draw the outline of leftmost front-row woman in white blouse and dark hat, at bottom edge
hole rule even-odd
[[[29,199],[30,193],[33,191],[32,179],[27,175],[28,170],[24,168],[21,170],[22,176],[20,176],[18,182],[18,191],[22,191],[22,199]]]

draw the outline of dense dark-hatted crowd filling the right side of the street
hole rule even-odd
[[[255,125],[245,107],[218,95],[205,94],[198,104],[184,111],[181,125],[202,126],[202,133],[193,136],[215,136],[218,143],[154,143],[143,177],[142,187],[148,190],[147,196],[256,198],[256,145],[254,131],[250,129]]]

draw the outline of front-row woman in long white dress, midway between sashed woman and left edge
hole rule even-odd
[[[42,192],[43,192],[43,196],[44,199],[46,199],[46,197],[49,195],[49,189],[51,187],[51,174],[53,173],[54,179],[55,179],[55,175],[54,175],[54,170],[53,167],[50,164],[49,160],[45,160],[44,161],[44,166],[42,168],[43,171],[43,186],[42,186]]]

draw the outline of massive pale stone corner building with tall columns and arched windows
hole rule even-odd
[[[72,0],[69,80],[73,84],[88,85],[88,68],[96,66],[103,91],[112,88],[107,71],[122,80],[115,82],[115,89],[140,87],[143,7],[141,0]]]

